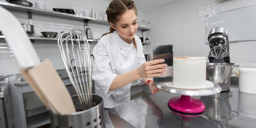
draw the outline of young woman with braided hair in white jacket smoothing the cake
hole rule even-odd
[[[104,107],[113,108],[130,100],[134,81],[143,81],[152,94],[158,92],[151,77],[163,75],[167,65],[159,64],[163,59],[145,62],[142,43],[135,35],[137,9],[132,0],[113,0],[106,14],[111,28],[93,49],[92,78]]]

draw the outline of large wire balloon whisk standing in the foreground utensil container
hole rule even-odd
[[[62,32],[58,37],[58,46],[67,74],[81,103],[79,109],[93,107],[90,45],[87,36],[80,29]]]

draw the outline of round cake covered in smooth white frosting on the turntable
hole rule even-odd
[[[173,86],[201,89],[205,87],[205,79],[206,57],[173,58]]]

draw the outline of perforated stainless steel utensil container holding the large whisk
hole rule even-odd
[[[77,96],[72,97],[77,112],[60,115],[50,111],[51,128],[105,128],[103,99],[93,95],[93,107],[79,111]]]

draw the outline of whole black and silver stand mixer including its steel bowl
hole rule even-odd
[[[230,63],[227,29],[224,27],[213,28],[207,39],[210,47],[207,80],[218,83],[222,91],[229,91],[230,76],[234,64]]]

